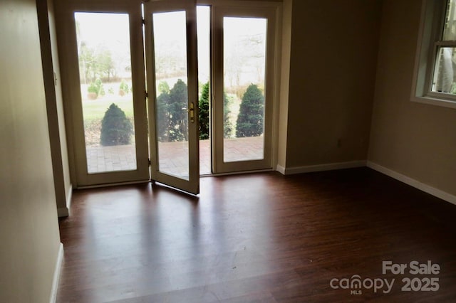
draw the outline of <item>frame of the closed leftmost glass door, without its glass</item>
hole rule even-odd
[[[140,1],[69,0],[56,1],[58,52],[68,131],[68,152],[73,186],[96,186],[149,180],[147,115],[145,101],[144,55]],[[126,13],[130,21],[130,56],[132,66],[133,106],[137,169],[88,174],[83,129],[83,108],[78,70],[78,46],[74,13]]]

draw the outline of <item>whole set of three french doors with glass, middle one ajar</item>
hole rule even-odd
[[[276,6],[209,2],[209,174],[271,169]],[[196,1],[56,1],[56,19],[75,185],[198,193]]]

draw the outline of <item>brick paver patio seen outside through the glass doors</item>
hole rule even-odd
[[[185,142],[160,143],[160,169],[176,176],[188,175],[188,151]],[[199,141],[199,174],[211,174],[209,140]],[[263,137],[225,139],[224,161],[263,158]],[[135,146],[87,147],[88,172],[136,169]],[[153,165],[153,164],[152,164]]]

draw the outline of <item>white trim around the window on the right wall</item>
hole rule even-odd
[[[446,0],[423,0],[411,101],[456,109],[456,96],[430,90],[435,66],[437,41],[440,40]]]

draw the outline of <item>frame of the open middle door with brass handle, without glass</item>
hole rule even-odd
[[[150,116],[150,155],[152,181],[158,181],[189,193],[199,193],[199,135],[198,135],[198,67],[197,67],[197,15],[196,1],[166,0],[146,2],[145,47],[147,64],[147,95]],[[157,87],[155,85],[155,53],[153,39],[153,14],[171,11],[185,11],[187,20],[187,126],[188,126],[188,171],[184,179],[160,169],[158,136],[156,127]]]

